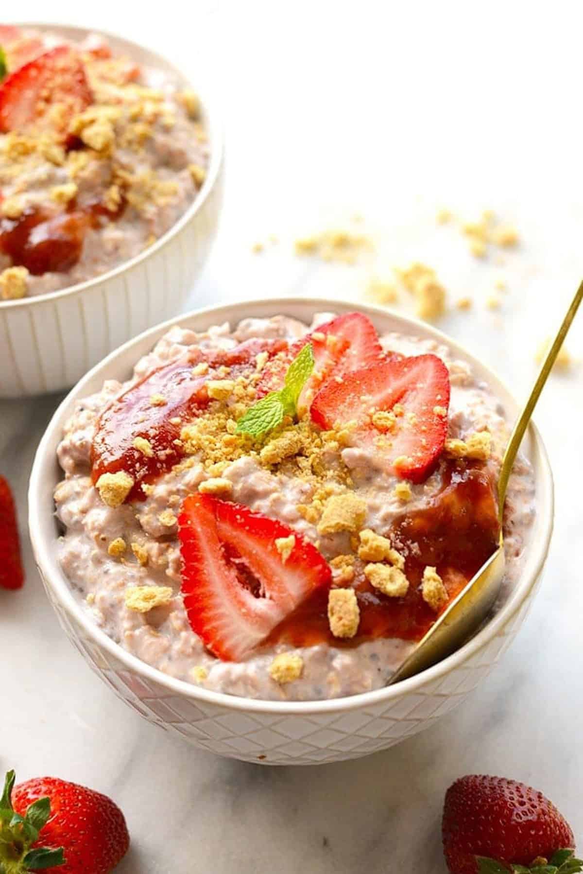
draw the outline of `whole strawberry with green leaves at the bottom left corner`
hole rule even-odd
[[[106,795],[55,777],[14,786],[0,800],[0,872],[109,874],[129,846],[126,821]]]

